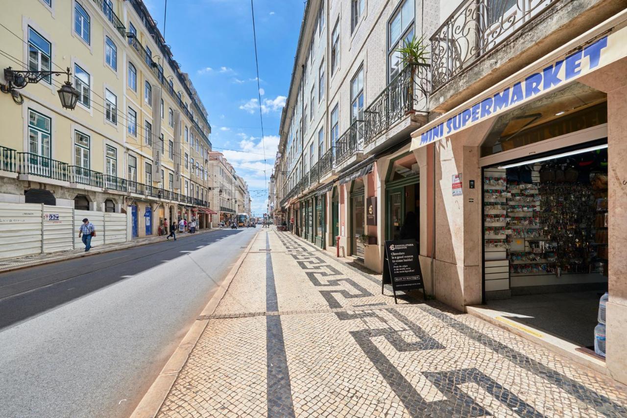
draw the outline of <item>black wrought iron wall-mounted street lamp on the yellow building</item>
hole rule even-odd
[[[16,71],[13,68],[8,67],[4,68],[4,80],[6,80],[6,85],[0,85],[0,90],[3,93],[9,93],[13,97],[13,101],[21,105],[24,103],[24,98],[16,91],[20,88],[26,87],[26,85],[30,83],[39,83],[44,78],[51,75],[61,75],[66,74],[68,76],[68,80],[65,81],[65,84],[61,86],[57,93],[59,94],[59,98],[61,100],[61,106],[74,110],[76,107],[76,102],[78,102],[78,97],[80,93],[78,90],[74,88],[72,83],[70,82],[70,68],[68,67],[67,71]]]

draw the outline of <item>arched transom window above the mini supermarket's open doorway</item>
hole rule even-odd
[[[507,95],[493,100],[506,100]],[[497,103],[493,105],[495,107]],[[461,123],[455,118],[453,126]],[[535,144],[608,122],[607,95],[574,82],[498,117],[481,145],[481,157]]]

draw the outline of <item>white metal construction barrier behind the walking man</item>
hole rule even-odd
[[[0,259],[83,248],[78,229],[85,217],[96,227],[92,246],[130,241],[124,213],[0,202]]]

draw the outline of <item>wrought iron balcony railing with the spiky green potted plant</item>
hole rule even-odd
[[[407,115],[426,113],[428,98],[429,65],[405,66],[364,111],[364,143],[370,144]]]

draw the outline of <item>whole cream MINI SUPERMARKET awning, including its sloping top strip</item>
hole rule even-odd
[[[627,56],[617,14],[411,133],[411,150],[508,112]],[[608,33],[609,31],[609,33]]]

